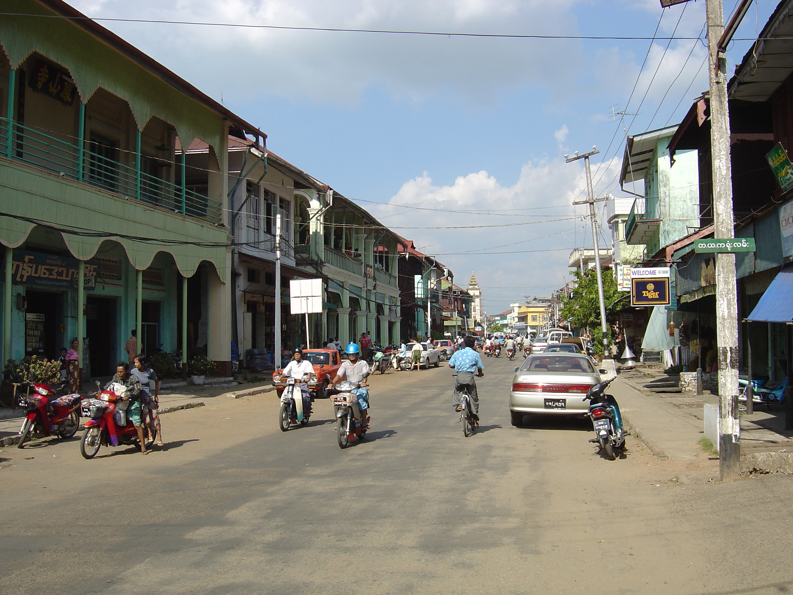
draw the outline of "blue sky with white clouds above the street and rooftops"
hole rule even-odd
[[[676,36],[698,36],[704,23],[702,0],[666,9],[662,18],[657,0],[73,4],[90,17],[466,33],[653,36],[658,27],[659,36],[675,29]],[[726,0],[726,17],[736,4]],[[737,37],[753,38],[775,7],[757,0]],[[598,145],[596,193],[623,195],[623,127],[630,134],[676,124],[707,89],[705,50],[691,40],[672,40],[667,49],[667,40],[103,25],[259,125],[274,152],[349,198],[382,203],[361,204],[438,255],[458,283],[475,272],[491,314],[561,286],[569,250],[592,245],[584,210],[570,206],[584,191],[583,167],[562,155]],[[730,71],[749,45],[730,48]],[[638,115],[614,120],[612,106]],[[527,250],[536,251],[519,252]]]

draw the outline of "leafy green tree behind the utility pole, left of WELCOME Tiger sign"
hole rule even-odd
[[[602,267],[603,274],[603,301],[606,305],[606,321],[608,323],[608,339],[612,343],[614,336],[612,324],[616,322],[616,313],[622,308],[617,302],[625,297],[623,292],[617,290],[614,271]],[[597,275],[594,269],[589,269],[584,274],[575,271],[577,286],[573,291],[561,298],[561,317],[569,321],[574,327],[591,328],[592,343],[596,354],[603,354],[603,329],[600,328],[600,300],[597,294]]]

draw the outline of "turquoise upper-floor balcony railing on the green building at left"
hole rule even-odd
[[[13,122],[9,142],[8,123],[7,118],[0,117],[0,148],[2,154],[10,159],[124,194],[174,213],[213,223],[222,221],[220,201],[140,171],[141,159],[136,153],[130,154],[132,164],[121,163],[90,150],[102,150],[102,145],[86,142],[86,148],[81,152],[79,144],[59,139],[19,122]],[[117,152],[115,148],[106,149],[108,152]]]

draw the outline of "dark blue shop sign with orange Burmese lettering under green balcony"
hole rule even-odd
[[[73,290],[79,278],[79,260],[69,256],[44,254],[30,250],[14,250],[11,263],[11,278],[14,285],[50,290]],[[83,286],[86,290],[96,287],[99,263],[85,262]]]

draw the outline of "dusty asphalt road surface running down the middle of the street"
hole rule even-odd
[[[278,430],[272,394],[163,416],[167,446],[0,451],[0,593],[789,593],[793,478],[707,480],[586,421],[509,423],[485,359],[481,429],[450,370],[372,381],[373,429],[341,450],[328,401]],[[31,458],[33,457],[33,458]]]

